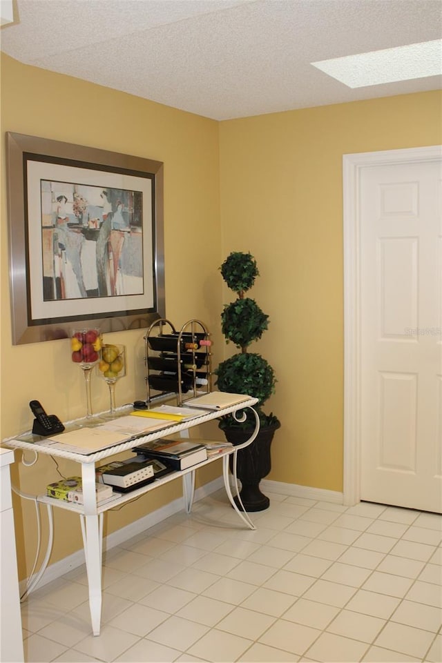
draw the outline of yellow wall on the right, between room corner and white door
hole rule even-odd
[[[270,316],[249,348],[278,377],[268,479],[343,489],[342,158],[441,144],[441,110],[426,92],[220,123],[222,253],[256,257]]]

